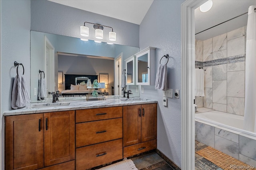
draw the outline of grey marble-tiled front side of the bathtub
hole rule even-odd
[[[195,126],[197,141],[256,167],[256,137],[198,119]]]

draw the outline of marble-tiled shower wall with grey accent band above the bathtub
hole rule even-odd
[[[244,115],[246,26],[195,46],[195,64],[205,70],[205,96],[196,97],[197,106]]]

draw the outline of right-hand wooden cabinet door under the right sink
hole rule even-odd
[[[157,133],[157,104],[143,104],[141,117],[142,142],[156,139]]]

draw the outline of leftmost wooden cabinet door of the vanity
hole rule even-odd
[[[43,168],[43,118],[43,114],[6,116],[6,170]]]

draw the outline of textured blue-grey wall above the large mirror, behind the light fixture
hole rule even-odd
[[[139,47],[139,25],[137,24],[47,0],[31,1],[31,30],[33,31],[81,38],[80,26],[84,25],[85,21],[113,27],[116,32],[116,44]],[[89,39],[95,40],[93,25],[89,24],[88,27]],[[110,28],[104,28],[104,39],[102,41],[108,42],[109,31],[111,31]]]

